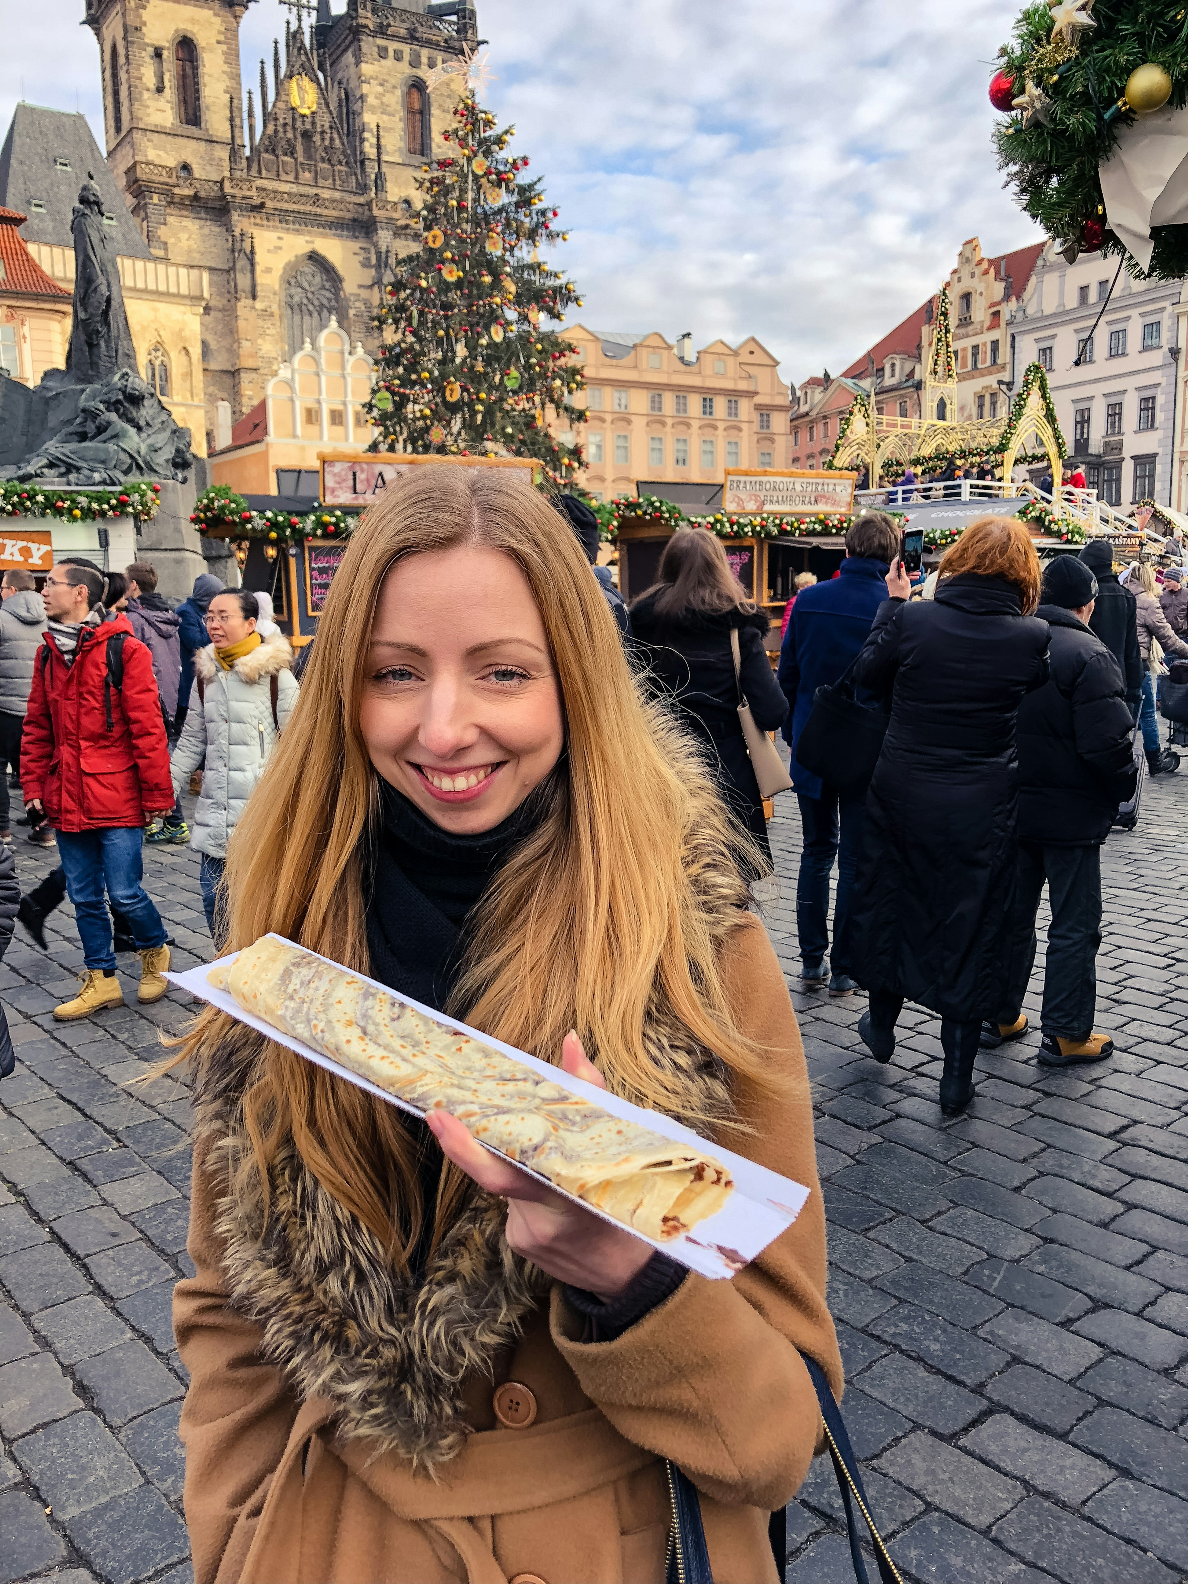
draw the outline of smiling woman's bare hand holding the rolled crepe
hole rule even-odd
[[[607,1087],[573,1033],[561,1042],[561,1066],[597,1088]],[[648,1243],[491,1155],[456,1117],[431,1110],[425,1120],[455,1166],[486,1193],[507,1199],[508,1245],[558,1281],[611,1299],[651,1259]]]

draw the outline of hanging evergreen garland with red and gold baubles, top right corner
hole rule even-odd
[[[1172,81],[1171,106],[1188,100],[1188,10],[1183,0],[1096,0],[1093,27],[1077,29],[1076,43],[1052,38],[1045,5],[1028,5],[1015,21],[998,67],[1012,79],[1015,95],[1028,82],[1050,101],[1047,122],[1012,114],[995,128],[995,147],[1007,185],[1020,208],[1061,250],[1126,253],[1106,225],[1098,169],[1117,147],[1118,131],[1134,122],[1126,108],[1117,112],[1126,79],[1147,62],[1163,67]],[[1147,279],[1178,280],[1188,274],[1188,225],[1152,231],[1155,253]],[[1133,276],[1142,276],[1126,255]]]

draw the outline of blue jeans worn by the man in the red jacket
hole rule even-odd
[[[114,830],[59,830],[57,855],[67,874],[67,895],[74,903],[82,961],[87,968],[116,973],[105,885],[112,908],[127,919],[136,950],[147,952],[155,946],[165,946],[162,916],[141,885],[144,832],[139,825],[119,825]]]

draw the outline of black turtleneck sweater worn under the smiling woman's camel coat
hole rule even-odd
[[[545,782],[494,830],[458,836],[442,830],[415,803],[380,781],[380,827],[372,846],[374,878],[367,900],[367,952],[374,979],[399,995],[442,1007],[466,950],[466,923],[508,857],[540,825],[550,803]],[[417,1145],[421,1202],[437,1198],[440,1147],[428,1126],[401,1114]],[[429,1258],[432,1217],[421,1224],[412,1269]],[[621,1335],[676,1291],[684,1267],[656,1253],[613,1302],[565,1288],[570,1305],[586,1316],[591,1342]]]

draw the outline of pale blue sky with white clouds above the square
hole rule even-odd
[[[339,10],[342,0],[331,0]],[[561,209],[594,329],[754,334],[835,372],[980,236],[1036,239],[1001,188],[987,82],[1004,0],[477,0],[491,109]],[[244,84],[284,33],[241,29]],[[290,13],[291,14],[291,13]],[[82,0],[0,0],[0,120],[25,97],[103,138]]]

